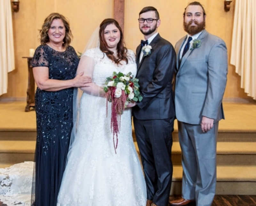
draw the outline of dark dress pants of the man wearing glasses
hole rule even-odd
[[[167,206],[172,183],[172,131],[174,118],[140,120],[134,129],[147,185],[147,198]]]

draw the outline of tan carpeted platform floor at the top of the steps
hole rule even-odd
[[[36,131],[35,111],[25,112],[25,102],[0,102],[0,131]],[[225,120],[219,132],[256,132],[255,103],[223,103]],[[177,121],[174,124],[177,132]]]

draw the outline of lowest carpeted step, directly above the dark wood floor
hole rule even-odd
[[[173,166],[171,195],[181,194],[182,166]],[[256,166],[217,166],[216,195],[256,195]]]

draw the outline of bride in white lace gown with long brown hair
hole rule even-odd
[[[121,116],[115,153],[111,104],[106,117],[102,89],[114,71],[136,76],[135,54],[124,47],[121,27],[114,19],[101,22],[99,38],[99,47],[86,50],[77,68],[77,73],[84,72],[93,82],[81,88],[75,138],[71,140],[57,205],[145,206],[146,184],[132,140],[131,108]],[[132,106],[129,103],[127,107]]]

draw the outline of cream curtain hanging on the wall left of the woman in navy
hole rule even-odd
[[[0,0],[0,95],[7,93],[7,73],[14,68],[11,1]]]

